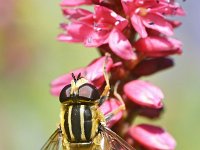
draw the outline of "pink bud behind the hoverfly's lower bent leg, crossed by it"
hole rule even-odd
[[[104,115],[106,115],[111,111],[117,109],[120,105],[120,101],[115,98],[110,98],[101,105],[100,110],[103,112]],[[122,114],[122,112],[119,112],[117,115],[115,115],[109,122],[107,122],[107,126],[112,127],[122,118]]]

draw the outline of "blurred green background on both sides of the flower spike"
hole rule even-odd
[[[187,16],[175,37],[184,53],[175,67],[145,80],[165,93],[166,111],[153,123],[177,140],[177,150],[200,149],[200,2],[186,1]],[[98,54],[56,41],[64,21],[59,1],[0,0],[0,149],[37,150],[56,129],[59,102],[49,93],[54,78],[87,65]],[[88,55],[89,54],[89,55]],[[139,122],[149,122],[137,119]]]

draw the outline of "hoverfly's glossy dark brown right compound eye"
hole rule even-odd
[[[83,84],[79,87],[79,95],[80,98],[87,100],[97,100],[100,98],[99,91],[92,84]]]

